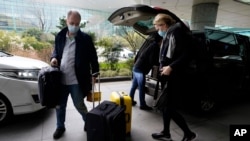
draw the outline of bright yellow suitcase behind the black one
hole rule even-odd
[[[126,134],[130,135],[131,120],[132,120],[132,100],[131,97],[125,92],[114,91],[111,93],[110,100],[118,105],[125,106],[125,121],[126,121]]]

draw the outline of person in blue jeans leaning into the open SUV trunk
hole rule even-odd
[[[145,102],[145,81],[146,74],[152,69],[154,65],[159,64],[159,50],[162,37],[158,33],[153,34],[149,45],[146,44],[140,48],[135,57],[135,63],[133,66],[133,80],[130,89],[130,97],[132,99],[132,105],[136,105],[134,95],[137,87],[139,88],[139,99],[141,110],[152,110]]]

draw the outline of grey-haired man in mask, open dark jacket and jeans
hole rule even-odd
[[[83,121],[88,112],[84,97],[91,91],[91,73],[99,72],[98,57],[89,35],[80,30],[81,15],[70,10],[67,14],[67,27],[55,38],[55,47],[51,57],[51,66],[62,71],[62,94],[56,108],[57,128],[54,139],[65,132],[65,115],[69,94]]]

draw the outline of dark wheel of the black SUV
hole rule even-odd
[[[201,112],[211,112],[215,109],[215,100],[211,97],[204,97],[200,100]]]

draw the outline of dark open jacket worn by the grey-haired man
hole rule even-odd
[[[55,38],[52,58],[57,59],[58,66],[61,64],[67,32],[68,28],[66,27]],[[83,93],[87,94],[92,89],[91,74],[99,72],[98,57],[93,41],[88,34],[79,30],[75,36],[75,42],[75,74]]]

